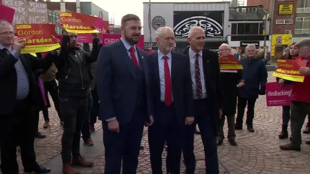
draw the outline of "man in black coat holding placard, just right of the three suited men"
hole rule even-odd
[[[219,57],[227,56],[231,54],[231,47],[223,43],[219,48]],[[224,109],[223,115],[219,121],[219,132],[217,136],[217,145],[222,145],[224,136],[224,123],[225,123],[225,116],[227,117],[227,125],[228,125],[228,142],[231,145],[237,145],[235,140],[236,134],[234,129],[234,115],[236,114],[236,107],[237,107],[237,94],[238,94],[238,87],[242,87],[244,83],[241,81],[242,73],[241,71],[237,70],[221,70],[221,80],[223,85],[223,92],[224,92]]]

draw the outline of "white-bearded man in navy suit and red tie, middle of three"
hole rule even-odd
[[[186,55],[172,51],[174,32],[169,27],[156,31],[158,51],[148,55],[149,91],[154,124],[148,129],[153,174],[162,174],[161,155],[168,144],[168,174],[180,174],[185,125],[194,122],[192,81]]]

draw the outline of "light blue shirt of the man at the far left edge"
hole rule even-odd
[[[4,46],[0,44],[0,49],[4,49]],[[9,52],[6,50],[7,54],[12,54],[17,60],[14,67],[16,69],[17,75],[17,88],[16,88],[16,100],[24,100],[29,94],[29,79],[28,74],[25,70],[23,63],[19,60],[20,53],[13,50]]]

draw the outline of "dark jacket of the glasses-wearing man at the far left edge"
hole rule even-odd
[[[36,79],[33,72],[37,69],[49,68],[54,55],[48,54],[45,58],[35,58],[30,54],[22,54],[18,61],[22,61],[29,79],[29,101],[32,107],[41,105],[39,94],[36,90]],[[13,55],[0,50],[0,116],[10,115],[14,108],[17,88],[17,74],[14,67],[17,59]]]

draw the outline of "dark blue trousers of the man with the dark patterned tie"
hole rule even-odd
[[[211,113],[211,101],[208,99],[194,100],[195,102],[195,122],[192,125],[186,125],[185,141],[183,148],[184,163],[188,173],[194,173],[196,168],[196,159],[194,154],[194,134],[198,124],[202,136],[204,147],[204,157],[206,174],[218,174],[217,157],[217,128],[215,124],[215,115]],[[216,116],[219,116],[216,113]],[[169,147],[168,147],[169,149]]]

